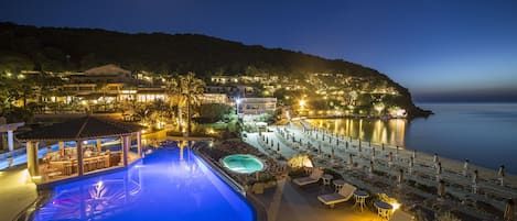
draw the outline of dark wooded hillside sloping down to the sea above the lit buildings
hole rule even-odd
[[[126,34],[97,29],[35,27],[0,23],[0,71],[85,70],[118,64],[131,71],[194,71],[212,75],[279,75],[304,79],[312,73],[340,73],[387,82],[401,96],[397,104],[422,115],[409,91],[371,68],[342,59],[265,48],[197,34]]]

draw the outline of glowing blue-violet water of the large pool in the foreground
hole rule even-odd
[[[160,148],[131,168],[60,185],[35,220],[255,220],[251,206],[193,153]]]

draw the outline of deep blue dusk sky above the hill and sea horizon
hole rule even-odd
[[[517,101],[511,0],[2,0],[0,21],[206,34],[358,63],[417,101]]]

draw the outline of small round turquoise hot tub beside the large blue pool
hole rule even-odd
[[[231,172],[251,174],[263,169],[263,163],[249,154],[233,154],[223,158],[223,165]]]

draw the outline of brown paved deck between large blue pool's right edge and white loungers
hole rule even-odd
[[[287,178],[280,180],[277,188],[265,190],[262,195],[248,194],[248,198],[258,208],[258,221],[373,221],[379,220],[377,213],[365,208],[353,209],[354,199],[330,209],[317,200],[317,196],[333,192],[319,184],[298,187]],[[263,214],[266,213],[266,214]]]

